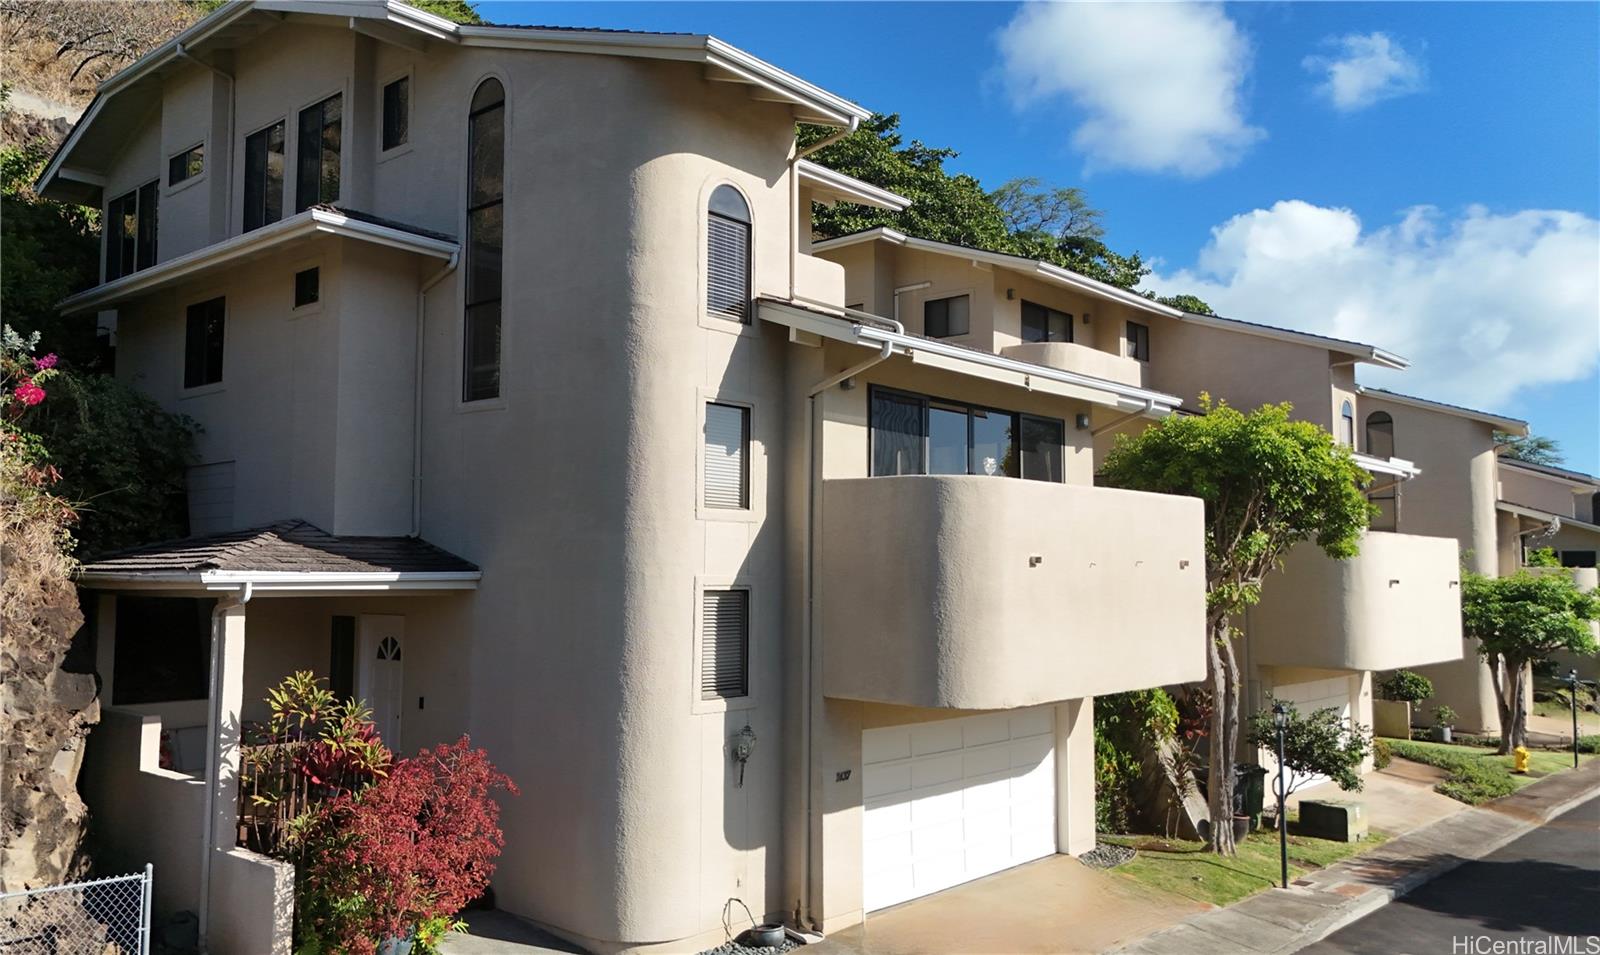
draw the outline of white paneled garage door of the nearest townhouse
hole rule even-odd
[[[1051,707],[861,736],[867,910],[1056,851]]]

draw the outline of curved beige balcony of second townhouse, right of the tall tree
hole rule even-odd
[[[1250,611],[1251,662],[1392,670],[1461,657],[1461,558],[1453,537],[1368,531],[1333,560],[1290,550]]]

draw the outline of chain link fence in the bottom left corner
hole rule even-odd
[[[0,894],[0,955],[150,955],[152,867]]]

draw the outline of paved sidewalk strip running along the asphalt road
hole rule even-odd
[[[1125,955],[1288,955],[1600,793],[1600,760],[1469,808],[1370,853],[1144,936]]]

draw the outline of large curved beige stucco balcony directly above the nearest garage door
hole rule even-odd
[[[1003,709],[1200,680],[1202,520],[1107,488],[826,480],[824,693]]]

